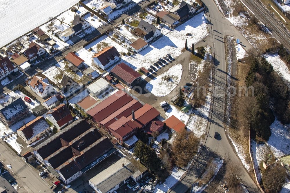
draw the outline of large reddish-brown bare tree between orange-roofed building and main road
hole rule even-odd
[[[173,141],[172,154],[178,167],[185,167],[195,155],[199,146],[199,138],[191,131],[181,129]]]

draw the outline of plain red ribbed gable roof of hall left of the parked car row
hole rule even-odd
[[[117,64],[112,70],[118,77],[131,84],[135,79],[142,77],[137,71],[130,68],[124,62]]]

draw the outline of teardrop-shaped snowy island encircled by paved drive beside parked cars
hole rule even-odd
[[[146,84],[146,89],[156,97],[162,97],[169,94],[181,80],[182,65],[176,64],[155,77]],[[167,80],[167,78],[170,78]]]

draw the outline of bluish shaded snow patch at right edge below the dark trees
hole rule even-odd
[[[268,145],[273,151],[276,158],[281,158],[284,155],[290,154],[290,124],[283,125],[275,119],[270,126],[271,136],[268,140]]]

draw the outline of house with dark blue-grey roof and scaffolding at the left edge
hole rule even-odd
[[[8,94],[0,100],[0,120],[10,126],[28,115],[29,111],[20,97],[10,97]]]

